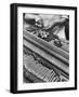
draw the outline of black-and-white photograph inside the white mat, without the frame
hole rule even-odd
[[[27,37],[30,41],[29,47],[27,46]],[[68,81],[68,61],[69,16],[24,13],[24,83]]]

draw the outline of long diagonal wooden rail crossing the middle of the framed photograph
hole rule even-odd
[[[69,78],[69,54],[67,52],[50,45],[29,32],[24,32],[23,45],[49,61],[67,79]]]

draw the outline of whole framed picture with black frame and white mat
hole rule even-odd
[[[76,89],[77,8],[12,4],[11,17],[11,93]]]

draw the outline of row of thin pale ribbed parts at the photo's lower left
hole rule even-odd
[[[26,75],[29,78],[35,78],[35,80],[37,77],[38,79],[41,80],[41,82],[61,81],[60,75],[53,69],[49,69],[42,66],[42,64],[39,64],[38,60],[35,60],[34,56],[31,55],[24,54],[24,68],[26,69],[26,71],[30,72],[31,75],[34,77],[28,75],[28,73]]]

